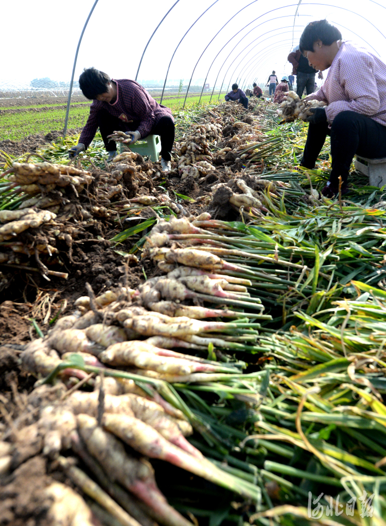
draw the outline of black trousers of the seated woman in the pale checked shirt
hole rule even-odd
[[[355,154],[368,159],[386,157],[386,125],[356,112],[340,112],[331,128],[328,123],[309,124],[301,165],[313,169],[326,136],[331,136],[332,170],[330,181],[339,185],[339,176],[347,183]]]

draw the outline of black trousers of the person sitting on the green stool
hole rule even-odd
[[[114,117],[106,110],[99,110],[98,112],[98,126],[100,135],[105,143],[107,151],[116,151],[117,143],[114,140],[109,140],[108,135],[111,135],[114,131],[134,131],[137,129],[139,123],[125,123],[123,120]],[[171,150],[174,143],[175,126],[171,117],[161,117],[158,123],[153,126],[150,131],[151,135],[159,135],[161,139],[161,157],[166,161],[171,159]],[[141,137],[145,138],[145,137]]]

